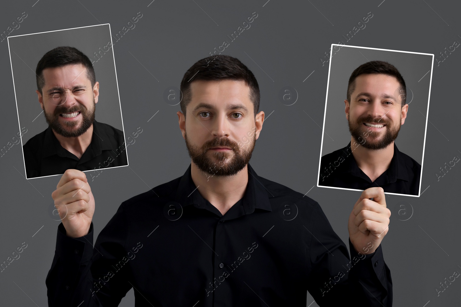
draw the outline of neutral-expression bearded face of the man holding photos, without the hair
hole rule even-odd
[[[201,171],[230,176],[245,168],[264,120],[243,81],[193,81],[187,121],[177,112],[189,156]]]

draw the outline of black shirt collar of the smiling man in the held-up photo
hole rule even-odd
[[[343,152],[347,152],[348,149],[349,151],[351,151],[350,144],[351,143],[349,142],[349,145],[343,148]],[[354,156],[350,154],[350,159],[346,159],[346,161],[347,162],[345,164],[345,168],[343,168],[343,172],[350,172],[354,176],[361,177],[361,173],[363,172],[357,166],[357,162],[355,162]],[[394,142],[394,156],[392,156],[389,168],[384,172],[384,174],[385,173],[387,173],[389,183],[396,182],[397,179],[409,181],[405,161],[403,161],[403,156],[401,152],[397,149],[396,142]]]

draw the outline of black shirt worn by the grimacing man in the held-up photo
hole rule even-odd
[[[79,159],[59,144],[51,127],[23,146],[27,178],[128,165],[123,131],[102,122],[93,122],[91,143]],[[99,174],[99,173],[98,173]]]

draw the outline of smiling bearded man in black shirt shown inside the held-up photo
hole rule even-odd
[[[351,141],[322,156],[319,185],[418,195],[421,165],[394,143],[407,118],[406,94],[392,64],[371,61],[354,70],[344,100]]]

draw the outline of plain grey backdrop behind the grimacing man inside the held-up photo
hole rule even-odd
[[[28,16],[20,24],[25,25],[27,18],[30,17],[29,13],[27,14]],[[56,24],[55,29],[62,29],[63,26],[62,23]],[[67,26],[71,26],[71,24]],[[21,27],[18,28],[19,30]],[[30,30],[33,31],[33,28],[31,27]],[[49,30],[53,31],[52,29]],[[19,32],[15,32],[16,30],[11,35],[20,35]],[[10,37],[8,41],[18,103],[19,125],[27,128],[27,133],[22,138],[23,145],[35,134],[41,133],[48,127],[45,115],[41,113],[37,93],[35,93],[37,89],[35,68],[45,53],[58,46],[75,47],[86,54],[90,60],[95,61],[93,67],[100,91],[95,119],[123,131],[112,48],[108,52],[101,52],[99,58],[95,55],[95,52],[100,52],[111,41],[108,24]],[[39,114],[40,116],[38,116]]]

